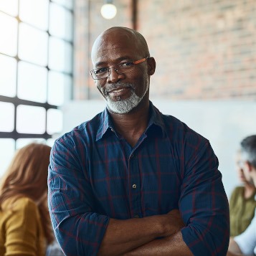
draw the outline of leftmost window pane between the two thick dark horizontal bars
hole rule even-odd
[[[0,102],[0,131],[14,131],[14,104]]]

